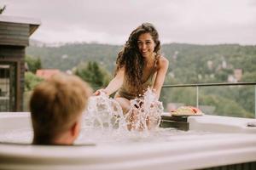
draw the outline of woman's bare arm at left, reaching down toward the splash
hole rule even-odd
[[[113,94],[117,91],[123,84],[125,77],[125,67],[122,67],[116,74],[115,77],[108,83],[107,88],[102,89],[102,91],[108,95]]]

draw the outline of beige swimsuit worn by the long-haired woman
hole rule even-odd
[[[142,94],[133,94],[131,93],[131,90],[128,88],[128,84],[127,81],[124,80],[123,85],[121,86],[121,88],[119,88],[119,91],[117,92],[117,95],[119,95],[119,97],[125,98],[125,99],[135,99],[135,98],[142,98],[143,97],[143,93],[146,92],[147,88],[150,87],[152,88],[154,85],[154,80],[155,80],[155,67],[156,67],[156,61],[158,58],[154,59],[154,66],[151,70],[151,73],[148,77],[148,79],[143,82],[143,92]]]

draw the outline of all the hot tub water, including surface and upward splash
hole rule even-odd
[[[83,124],[75,144],[138,144],[173,141],[184,136],[198,138],[205,133],[183,132],[175,128],[160,128],[163,106],[148,88],[143,99],[131,100],[131,110],[125,116],[119,103],[106,94],[90,97]],[[0,141],[30,144],[32,128],[20,128],[0,134]]]

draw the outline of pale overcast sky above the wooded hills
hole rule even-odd
[[[123,44],[143,22],[160,41],[256,44],[256,0],[1,0],[3,14],[41,20],[42,42]]]

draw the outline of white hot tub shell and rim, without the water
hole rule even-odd
[[[255,169],[256,127],[247,126],[254,121],[190,116],[189,131],[166,137],[171,139],[168,141],[74,146],[1,143],[0,169],[220,169],[235,165]],[[31,128],[29,113],[0,114],[2,137],[27,128]]]

